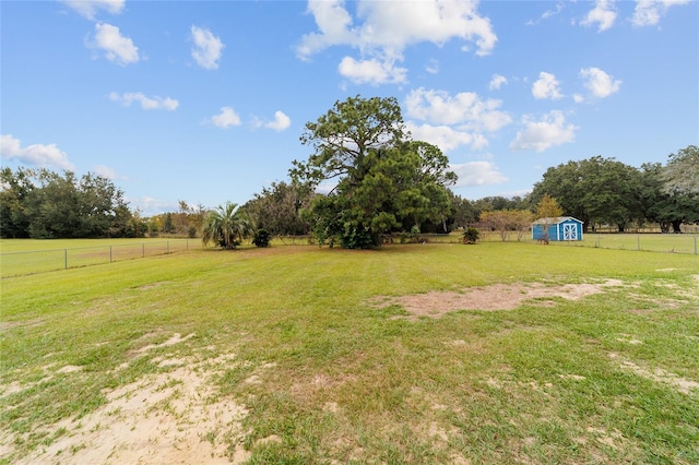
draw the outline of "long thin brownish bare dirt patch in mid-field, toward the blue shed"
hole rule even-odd
[[[490,286],[465,288],[461,291],[431,291],[401,297],[378,297],[371,300],[377,308],[398,305],[403,307],[408,317],[440,318],[445,313],[457,310],[513,310],[525,300],[555,297],[577,300],[587,296],[603,293],[611,287],[621,287],[618,279],[606,279],[601,283],[581,283],[550,286],[542,283],[494,284]]]

